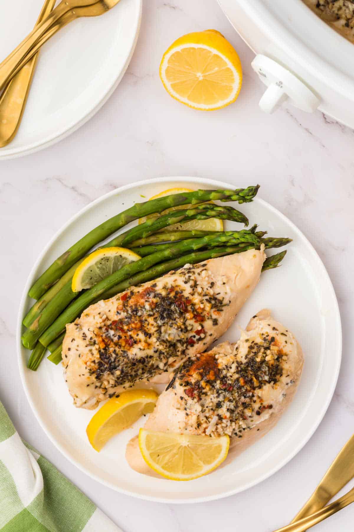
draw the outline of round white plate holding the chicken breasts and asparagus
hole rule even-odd
[[[331,281],[320,257],[301,231],[258,197],[252,203],[241,205],[240,210],[251,223],[257,222],[262,229],[269,230],[270,236],[291,237],[293,243],[288,246],[281,268],[262,273],[254,293],[222,339],[238,339],[238,326],[245,327],[252,315],[268,307],[297,336],[305,354],[305,369],[295,400],[278,425],[234,462],[211,475],[183,483],[140,475],[128,467],[124,453],[126,443],[137,434],[143,420],[111,439],[97,453],[85,434],[92,412],[74,408],[61,367],[44,360],[37,372],[26,368],[29,352],[21,344],[21,322],[30,306],[27,292],[33,280],[67,247],[103,220],[134,202],[141,202],[141,195],[149,198],[171,187],[232,189],[243,185],[169,177],[118,188],[76,214],[51,240],[28,278],[20,305],[17,345],[23,386],[33,412],[68,460],[119,492],[169,503],[208,501],[241,492],[272,475],[299,452],[329,406],[341,361],[341,322]],[[227,229],[232,227],[239,225],[227,222]]]

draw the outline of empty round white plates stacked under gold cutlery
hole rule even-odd
[[[28,35],[43,0],[4,2],[0,62]],[[18,134],[0,159],[36,152],[70,135],[107,101],[134,52],[142,0],[120,0],[101,16],[71,22],[40,52]]]

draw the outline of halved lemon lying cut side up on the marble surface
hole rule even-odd
[[[194,109],[213,111],[235,102],[242,67],[234,47],[216,30],[184,35],[163,54],[160,78],[168,94]]]

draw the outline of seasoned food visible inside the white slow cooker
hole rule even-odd
[[[322,20],[354,42],[354,0],[303,0]]]

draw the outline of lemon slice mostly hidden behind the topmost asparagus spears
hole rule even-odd
[[[159,194],[156,194],[156,196],[152,196],[150,200],[156,200],[156,198],[162,198],[163,196],[169,196],[170,194],[183,194],[184,192],[193,192],[193,190],[191,188],[169,188],[167,190],[163,190],[163,192],[160,192]],[[209,201],[208,203],[214,202]],[[193,209],[193,207],[195,207],[195,205],[192,204],[178,205],[176,207],[170,207],[169,209],[162,211],[160,214],[167,214],[171,211]],[[146,222],[148,219],[150,220],[151,218],[157,218],[158,216],[159,214],[149,214],[149,216],[140,218],[139,225]],[[193,229],[198,229],[200,231],[223,231],[223,223],[222,220],[218,220],[218,218],[209,218],[208,220],[191,220],[185,223],[174,223],[174,225],[165,227],[165,229],[161,229],[161,231],[191,231]]]

